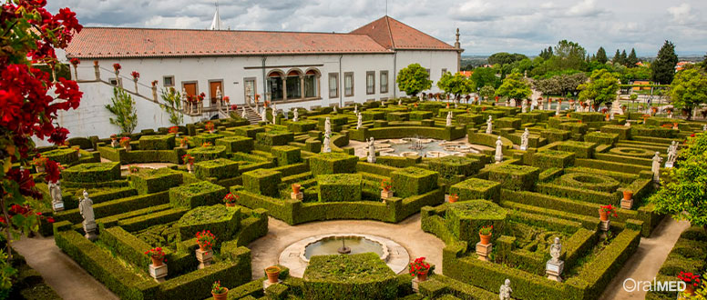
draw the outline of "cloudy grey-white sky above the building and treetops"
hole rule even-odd
[[[83,25],[197,28],[210,25],[214,0],[48,0]],[[385,15],[385,0],[221,0],[223,23],[238,30],[349,32]],[[589,53],[603,45],[655,55],[664,40],[679,55],[707,52],[704,0],[388,0],[388,15],[449,44],[459,27],[465,55],[538,55],[569,39]],[[702,15],[702,17],[700,16]]]

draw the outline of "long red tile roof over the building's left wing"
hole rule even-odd
[[[390,53],[368,35],[84,27],[67,57],[178,57]]]

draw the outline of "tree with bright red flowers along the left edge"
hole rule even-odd
[[[66,49],[83,28],[70,9],[62,8],[52,15],[45,5],[46,1],[5,1],[0,14],[0,226],[5,229],[6,242],[6,256],[2,256],[8,262],[13,259],[13,239],[38,230],[42,218],[36,205],[41,205],[43,196],[35,187],[35,180],[42,179],[30,175],[28,168],[35,149],[32,137],[48,137],[49,143],[63,145],[68,130],[55,125],[57,112],[76,109],[81,102],[75,81],[63,77],[54,81],[49,73],[32,65],[59,65],[55,49]],[[26,168],[23,171],[15,164]],[[44,180],[58,180],[59,172],[56,162],[47,161]],[[9,264],[0,269],[4,281],[11,269]]]

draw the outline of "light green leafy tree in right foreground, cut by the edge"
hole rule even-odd
[[[662,188],[649,198],[655,212],[707,228],[707,134],[688,137],[687,149],[661,181]]]

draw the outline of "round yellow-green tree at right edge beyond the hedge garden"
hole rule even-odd
[[[682,108],[689,120],[695,106],[707,103],[707,73],[697,67],[681,70],[672,80],[668,95],[672,105]]]

